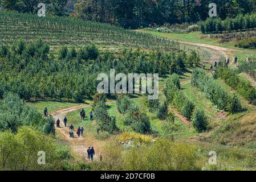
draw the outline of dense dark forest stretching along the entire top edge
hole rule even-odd
[[[70,15],[85,20],[141,28],[165,23],[195,23],[209,17],[209,4],[216,3],[222,20],[256,12],[254,0],[1,0],[3,9],[36,13],[38,3],[47,14]]]

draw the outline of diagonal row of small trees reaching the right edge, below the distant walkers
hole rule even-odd
[[[217,69],[217,76],[222,78],[231,88],[237,90],[251,104],[256,105],[256,89],[251,86],[248,80],[239,77],[235,71],[226,67],[219,67]]]

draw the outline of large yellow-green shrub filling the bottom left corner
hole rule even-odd
[[[57,153],[54,138],[40,133],[34,128],[22,126],[17,134],[0,133],[1,169],[9,171],[59,170],[62,159]],[[46,154],[46,164],[38,165],[39,151]]]

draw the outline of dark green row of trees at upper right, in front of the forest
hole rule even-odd
[[[201,32],[214,33],[222,31],[238,31],[250,28],[256,28],[256,14],[237,15],[234,19],[226,18],[222,21],[220,18],[207,18],[201,23]]]

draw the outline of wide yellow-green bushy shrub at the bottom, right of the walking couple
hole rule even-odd
[[[168,139],[158,139],[147,146],[133,147],[125,153],[125,170],[198,170],[197,147],[188,143],[174,143]],[[166,165],[168,164],[168,165]]]

